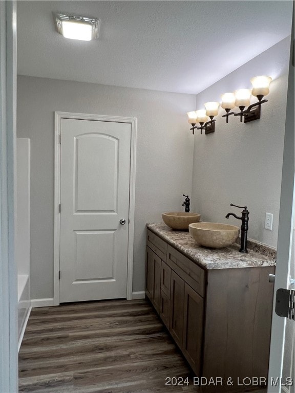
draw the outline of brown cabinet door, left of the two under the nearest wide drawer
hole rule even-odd
[[[182,348],[184,281],[171,271],[170,326],[169,331],[175,342]]]

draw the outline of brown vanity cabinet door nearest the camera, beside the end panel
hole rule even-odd
[[[203,313],[203,298],[185,283],[182,353],[197,376],[201,367]]]

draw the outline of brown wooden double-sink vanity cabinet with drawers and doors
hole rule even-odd
[[[180,250],[177,232],[167,229],[163,236],[160,228],[158,234],[155,225],[147,229],[145,293],[196,376],[222,378],[223,385],[201,391],[244,391],[251,388],[242,384],[244,378],[267,380],[273,296],[268,275],[275,261],[255,251],[241,255],[238,246],[198,247],[188,232],[179,232]],[[239,267],[247,258],[256,265]],[[210,265],[212,259],[220,261]],[[228,378],[233,385],[227,385]]]

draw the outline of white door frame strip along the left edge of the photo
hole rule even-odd
[[[16,3],[0,2],[0,391],[18,391]]]

